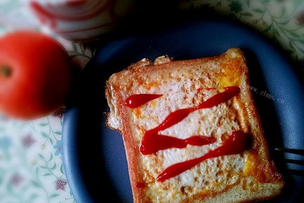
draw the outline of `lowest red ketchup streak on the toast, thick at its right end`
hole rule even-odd
[[[201,157],[170,165],[157,177],[156,180],[159,182],[164,182],[165,180],[177,176],[209,158],[243,153],[250,147],[250,144],[250,134],[244,133],[243,131],[234,131],[222,146],[209,151],[207,154]]]

